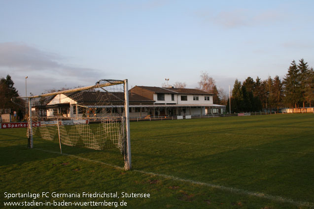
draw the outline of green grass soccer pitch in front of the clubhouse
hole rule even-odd
[[[132,171],[118,149],[93,150],[0,129],[1,208],[8,193],[118,193],[125,209],[314,208],[314,114],[131,123]],[[121,192],[149,193],[122,198]],[[104,201],[37,198],[36,201]],[[12,207],[4,207],[12,208]],[[98,207],[17,207],[98,208]],[[101,208],[115,208],[101,207]]]

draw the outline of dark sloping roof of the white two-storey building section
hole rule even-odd
[[[201,94],[201,95],[213,95],[212,93],[197,90],[197,89],[181,89],[181,88],[163,88],[163,87],[146,87],[136,86],[145,90],[150,90],[154,93],[174,93],[174,94]]]

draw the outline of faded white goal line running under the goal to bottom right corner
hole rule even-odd
[[[66,155],[66,156],[69,156],[69,157],[77,158],[79,160],[99,163],[99,164],[110,166],[110,167],[113,167],[113,168],[116,168],[116,169],[119,169],[119,170],[124,170],[124,168],[122,168],[120,166],[111,165],[109,163],[105,163],[105,162],[102,162],[102,161],[99,161],[99,160],[91,160],[91,159],[80,157],[80,156],[76,156],[76,155],[73,155],[73,154],[60,153],[60,152],[57,152],[57,151],[50,151],[50,150],[37,149],[37,148],[34,148],[34,149],[45,151],[45,152],[51,152],[51,153]],[[182,182],[188,182],[188,183],[192,183],[192,184],[207,186],[207,187],[211,187],[211,188],[215,188],[215,189],[225,190],[225,191],[229,191],[231,193],[237,193],[237,194],[244,194],[244,195],[248,195],[248,196],[266,198],[266,199],[272,200],[272,201],[289,203],[289,204],[292,204],[292,205],[295,205],[295,206],[298,206],[298,207],[301,207],[301,206],[314,207],[314,203],[311,203],[311,202],[295,201],[295,200],[292,200],[292,199],[289,199],[289,198],[284,198],[284,197],[275,196],[275,195],[268,195],[268,194],[265,194],[265,193],[262,193],[262,192],[251,192],[251,191],[247,191],[247,190],[244,190],[244,189],[238,189],[238,188],[234,188],[234,187],[227,187],[227,186],[222,186],[222,185],[216,185],[216,184],[212,184],[212,183],[206,183],[206,182],[190,180],[190,179],[181,179],[181,178],[174,177],[174,176],[171,176],[171,175],[158,174],[158,173],[153,173],[153,172],[148,172],[148,171],[141,171],[141,170],[132,170],[132,171],[133,172],[139,172],[141,174],[146,174],[146,175],[158,176],[158,177],[162,177],[162,178],[165,178],[165,179],[172,179],[172,180],[177,180],[177,181],[182,181]]]

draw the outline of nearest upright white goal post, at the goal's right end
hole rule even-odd
[[[126,120],[126,137],[127,137],[127,148],[126,148],[126,158],[124,161],[124,169],[131,170],[131,136],[130,136],[130,113],[129,113],[129,88],[128,79],[124,80],[124,109],[125,109],[125,120]]]

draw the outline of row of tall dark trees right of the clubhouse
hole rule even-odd
[[[314,100],[314,70],[303,59],[293,60],[285,77],[255,81],[247,77],[243,83],[236,79],[232,90],[231,112],[272,111],[282,107],[305,108]],[[227,110],[230,101],[227,100]],[[229,111],[228,111],[229,112]]]

